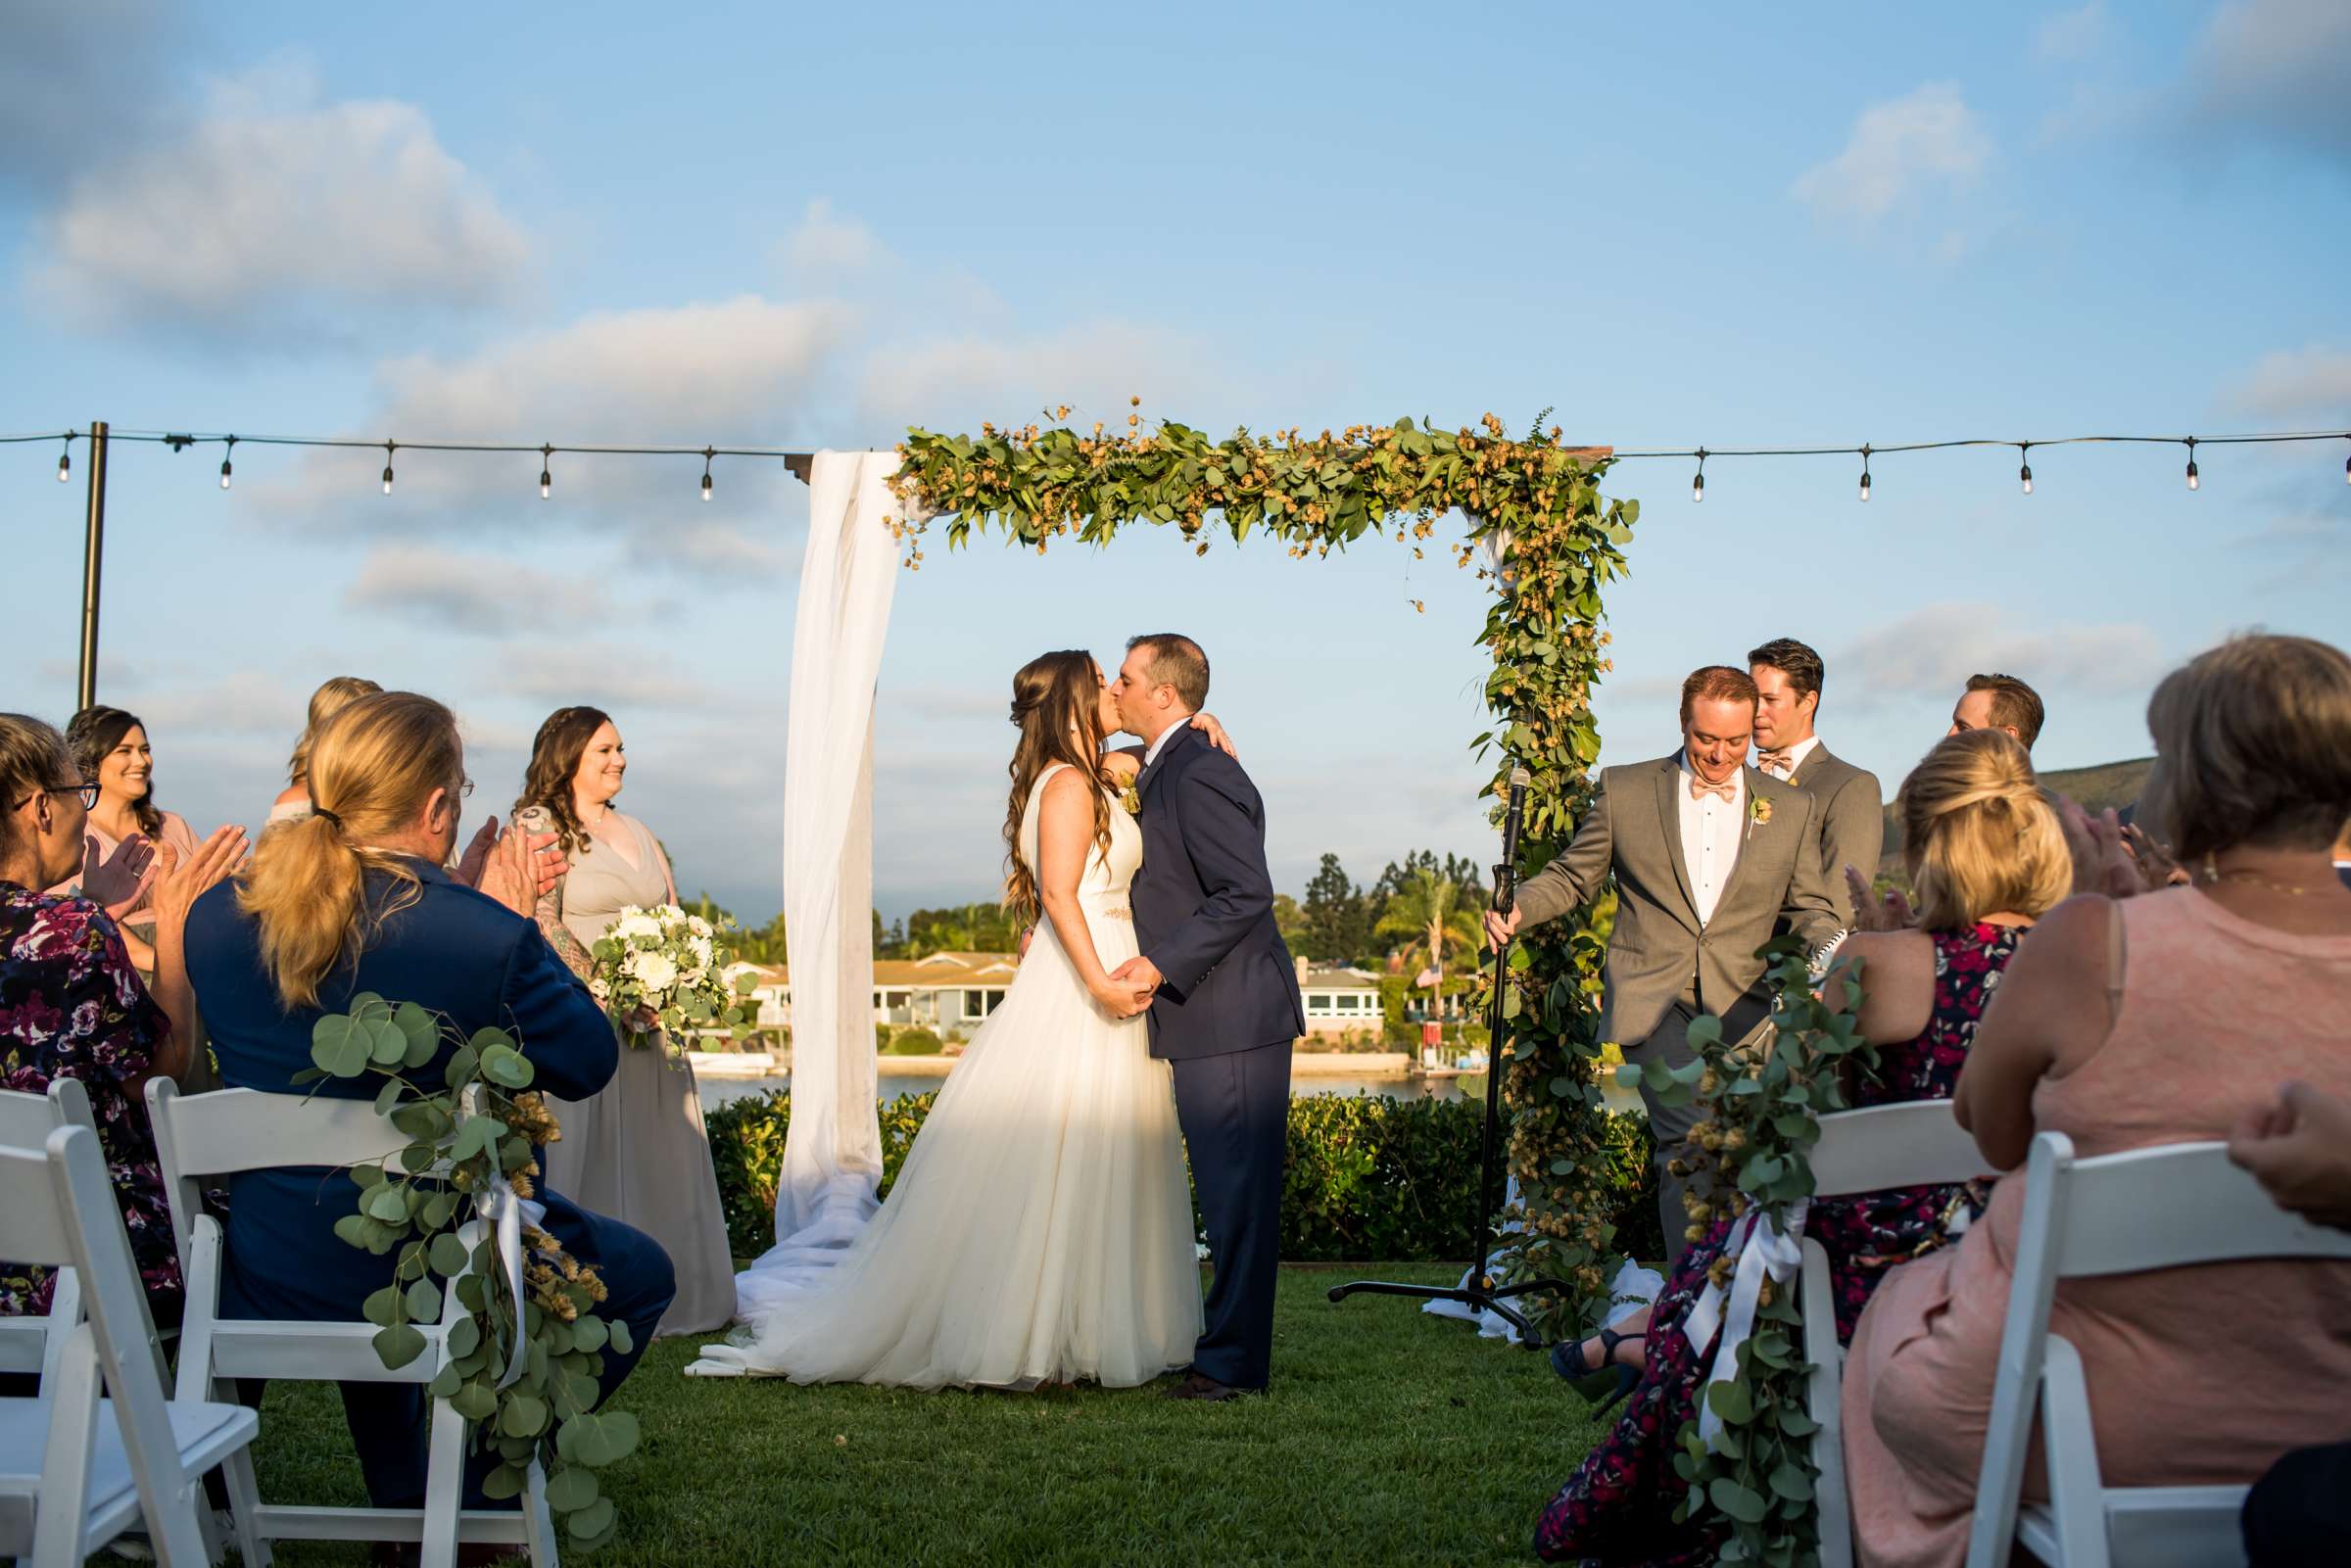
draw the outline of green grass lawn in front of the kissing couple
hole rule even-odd
[[[1324,1300],[1284,1269],[1274,1392],[915,1394],[689,1380],[661,1340],[616,1403],[644,1443],[604,1472],[635,1563],[1523,1563],[1535,1512],[1599,1439],[1542,1356],[1420,1302]],[[1371,1269],[1439,1281],[1441,1265]],[[364,1505],[331,1387],[273,1385],[261,1495]],[[289,1542],[277,1561],[364,1563]]]

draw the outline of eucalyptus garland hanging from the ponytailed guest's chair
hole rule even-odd
[[[571,1542],[604,1544],[614,1535],[614,1502],[600,1493],[595,1472],[637,1446],[637,1418],[595,1408],[597,1375],[607,1347],[632,1349],[628,1324],[597,1314],[604,1281],[555,1237],[524,1225],[522,1258],[510,1260],[482,1213],[501,1185],[517,1199],[531,1197],[534,1145],[560,1133],[545,1100],[529,1093],[531,1060],[505,1030],[463,1037],[414,1001],[390,1004],[371,992],[313,1025],[310,1060],[315,1067],[301,1081],[381,1077],[376,1114],[411,1140],[390,1159],[350,1166],[357,1211],[334,1225],[350,1246],[379,1258],[400,1253],[393,1284],[362,1307],[379,1326],[383,1366],[426,1354],[416,1324],[440,1324],[454,1293],[463,1316],[449,1324],[430,1394],[447,1399],[475,1443],[498,1455],[484,1490],[520,1495],[538,1460],[548,1509]],[[407,1077],[435,1060],[444,1063],[440,1088]],[[520,1265],[522,1300],[510,1265]]]

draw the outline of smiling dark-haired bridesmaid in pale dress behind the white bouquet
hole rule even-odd
[[[531,743],[515,818],[555,832],[571,870],[538,900],[538,929],[588,978],[592,947],[623,905],[677,903],[651,830],[614,809],[628,750],[597,708],[557,708]],[[694,1067],[665,1044],[621,1051],[621,1070],[588,1100],[555,1100],[562,1138],[548,1182],[581,1206],[635,1225],[677,1265],[677,1300],[658,1333],[710,1333],[734,1321],[734,1255]]]

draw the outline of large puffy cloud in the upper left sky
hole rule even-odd
[[[313,331],[364,306],[477,306],[529,244],[414,103],[320,101],[299,66],[221,82],[179,134],[33,223],[31,289],[115,327]]]

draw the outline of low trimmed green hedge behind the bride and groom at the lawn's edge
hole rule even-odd
[[[882,1103],[882,1197],[931,1114],[936,1093]],[[1483,1103],[1389,1095],[1298,1095],[1281,1178],[1281,1258],[1288,1262],[1460,1258],[1476,1187]],[[726,1239],[757,1258],[776,1239],[776,1171],[792,1091],[745,1095],[708,1114]],[[1617,1246],[1660,1258],[1657,1182],[1648,1121],[1608,1117]]]

